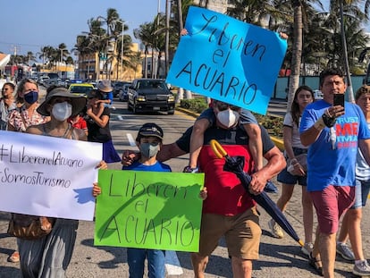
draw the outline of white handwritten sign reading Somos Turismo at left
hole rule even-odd
[[[99,143],[0,131],[0,211],[92,220]]]

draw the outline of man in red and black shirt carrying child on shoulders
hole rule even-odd
[[[261,193],[266,181],[282,171],[286,165],[285,158],[261,127],[263,155],[267,164],[252,173],[248,133],[238,121],[240,109],[231,109],[231,105],[218,102],[213,108],[216,121],[204,133],[204,145],[198,158],[199,171],[205,173],[207,198],[203,202],[199,251],[191,254],[194,274],[198,278],[205,277],[208,256],[224,236],[234,277],[251,277],[252,262],[258,258],[261,237],[256,203],[234,173],[223,171],[224,161],[214,155],[210,141],[216,139],[229,156],[244,157],[244,171],[252,176],[249,191],[253,194]],[[163,145],[157,159],[166,161],[189,153],[191,132],[192,128],[189,128],[176,142]],[[129,152],[124,154],[122,164],[130,164],[132,156]]]

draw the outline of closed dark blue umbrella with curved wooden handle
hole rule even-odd
[[[255,195],[249,192],[248,186],[252,177],[244,172],[244,156],[228,156],[223,147],[216,140],[211,140],[211,147],[214,151],[215,156],[218,158],[225,158],[226,163],[223,166],[223,170],[231,173],[235,173],[241,181],[241,185],[249,193],[250,197],[253,198],[259,206],[262,206],[266,213],[269,214],[273,220],[278,223],[282,230],[287,232],[293,240],[296,240],[300,246],[303,246],[303,241],[299,239],[297,232],[293,229],[291,224],[278,206],[273,200],[266,194],[265,191]]]

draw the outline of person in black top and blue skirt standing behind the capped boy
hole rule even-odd
[[[108,107],[104,107],[100,114],[99,100],[103,98],[99,90],[93,89],[88,92],[88,141],[103,143],[103,160],[106,163],[121,162],[121,157],[117,154],[112,142],[109,120],[111,112]]]

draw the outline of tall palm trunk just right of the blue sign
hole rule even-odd
[[[302,57],[302,6],[300,1],[293,1],[294,7],[294,29],[293,29],[293,52],[291,56],[291,73],[288,91],[287,112],[290,112],[294,93],[299,88],[300,62]]]

